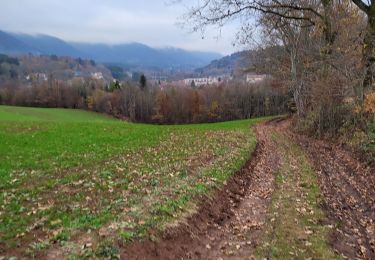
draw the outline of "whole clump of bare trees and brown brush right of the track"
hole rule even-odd
[[[362,84],[358,84],[355,75],[360,67],[357,49],[361,48],[364,31],[361,27],[363,17],[356,6],[368,18],[363,51],[366,77]],[[365,91],[372,88],[373,64],[375,67],[373,15],[375,1],[200,0],[183,18],[193,31],[202,33],[207,26],[221,27],[235,19],[241,22],[239,31],[245,39],[251,37],[254,29],[265,31],[267,40],[273,41],[273,46],[283,48],[289,56],[288,59],[282,55],[273,56],[268,64],[281,64],[279,68],[288,69],[289,87],[299,115],[312,114],[309,118],[316,122],[310,125],[324,133],[326,130],[337,131],[342,124],[346,97],[356,93],[361,102],[363,88]],[[272,48],[268,50],[273,51]],[[271,66],[275,67],[274,64]]]

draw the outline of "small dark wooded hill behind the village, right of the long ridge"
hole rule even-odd
[[[195,73],[201,76],[233,75],[242,69],[251,66],[250,52],[241,51],[213,60],[207,66],[196,69]]]

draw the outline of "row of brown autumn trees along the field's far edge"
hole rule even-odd
[[[0,103],[32,107],[80,108],[134,122],[182,124],[218,122],[287,112],[288,96],[277,82],[243,82],[215,86],[148,86],[140,82],[110,85],[87,80],[67,84],[48,80],[32,86],[8,82],[0,88]]]

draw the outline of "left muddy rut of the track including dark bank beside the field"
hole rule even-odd
[[[269,136],[272,123],[255,127],[258,145],[246,165],[197,214],[158,242],[136,242],[121,250],[122,259],[244,259],[254,253],[271,202],[277,149]]]

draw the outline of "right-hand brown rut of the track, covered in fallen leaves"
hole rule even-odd
[[[342,147],[292,134],[320,181],[323,208],[336,225],[331,243],[349,259],[375,259],[375,171]]]

